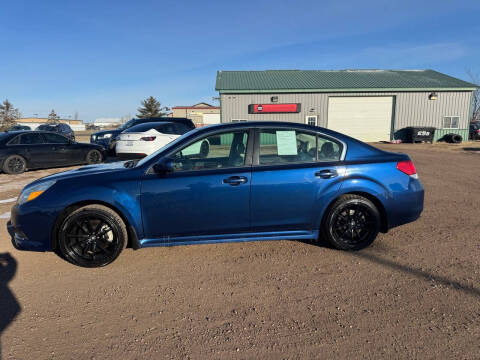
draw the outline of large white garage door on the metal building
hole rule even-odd
[[[389,141],[391,96],[330,97],[328,128],[362,141]]]

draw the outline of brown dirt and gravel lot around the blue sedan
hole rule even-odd
[[[480,143],[379,147],[412,157],[425,210],[353,253],[193,245],[83,269],[13,249],[0,202],[2,358],[479,359]],[[0,199],[59,170],[2,174]]]

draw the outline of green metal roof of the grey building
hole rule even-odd
[[[475,90],[477,85],[434,70],[218,71],[220,92]]]

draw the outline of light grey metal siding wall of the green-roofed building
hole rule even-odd
[[[436,131],[438,139],[445,133],[464,134],[468,129],[471,91],[440,92],[438,99],[429,100],[431,92],[368,92],[368,93],[283,93],[283,94],[221,94],[222,122],[234,120],[272,120],[305,122],[306,116],[317,115],[318,125],[328,127],[328,98],[330,96],[394,96],[394,132],[407,126],[428,126],[441,129],[444,116],[459,116],[459,129]],[[272,96],[278,103],[300,103],[300,113],[249,114],[249,104],[269,104]],[[467,131],[468,133],[468,131]],[[465,137],[464,137],[465,138]]]

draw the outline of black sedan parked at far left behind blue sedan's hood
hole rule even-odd
[[[97,164],[103,159],[101,146],[77,143],[57,133],[0,133],[0,168],[7,174],[20,174],[27,169]]]

